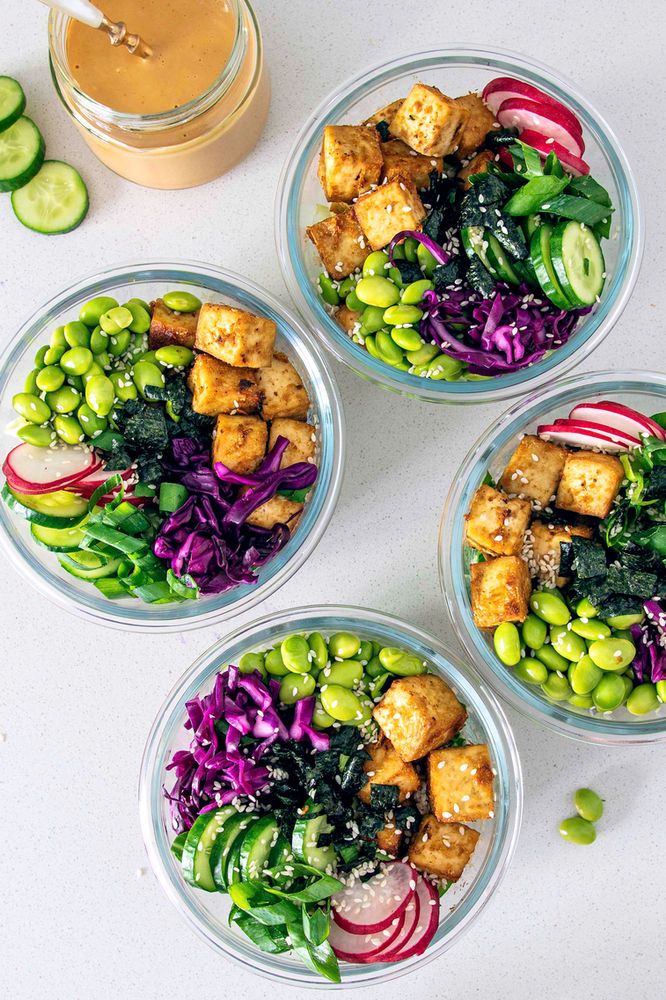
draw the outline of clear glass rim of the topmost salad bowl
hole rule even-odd
[[[354,344],[332,319],[302,264],[304,233],[298,224],[300,188],[307,163],[318,145],[319,133],[326,121],[336,120],[348,103],[359,99],[370,87],[380,86],[398,71],[414,71],[434,67],[442,61],[455,65],[476,60],[486,67],[507,73],[517,72],[524,79],[546,86],[556,97],[567,101],[582,118],[605,156],[618,188],[623,207],[622,252],[613,274],[610,292],[604,296],[587,323],[585,340],[575,342],[575,336],[550,358],[531,369],[508,375],[494,376],[488,381],[432,382],[408,372],[397,372],[368,355]],[[617,207],[617,206],[616,206]],[[275,240],[282,276],[292,301],[303,319],[321,335],[327,349],[357,375],[393,392],[437,403],[480,403],[510,399],[559,378],[580,364],[610,333],[624,311],[640,271],[645,243],[642,202],[633,171],[624,147],[606,119],[581,94],[567,76],[546,63],[510,49],[475,45],[451,45],[407,53],[386,62],[374,64],[348,78],[325,97],[306,118],[283,164],[275,199]]]

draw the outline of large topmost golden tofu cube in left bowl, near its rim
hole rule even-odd
[[[262,368],[273,359],[277,332],[266,316],[205,302],[199,311],[194,346],[228,365]]]

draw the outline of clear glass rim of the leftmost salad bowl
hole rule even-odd
[[[242,297],[245,296],[250,300],[252,306],[260,309],[264,315],[272,316],[278,321],[278,326],[281,323],[293,332],[294,339],[303,345],[305,355],[304,358],[298,356],[298,362],[304,367],[307,367],[306,360],[313,365],[314,371],[310,370],[309,374],[313,376],[316,383],[320,384],[318,392],[324,393],[326,407],[330,409],[330,413],[326,415],[327,423],[330,424],[330,433],[326,444],[328,455],[326,464],[329,466],[326,469],[328,488],[321,501],[318,502],[318,513],[312,515],[314,521],[310,525],[310,530],[303,535],[297,548],[284,565],[277,569],[268,580],[253,589],[249,585],[247,588],[240,588],[244,591],[241,597],[227,606],[211,607],[211,604],[215,602],[215,596],[211,596],[200,602],[200,610],[198,607],[192,608],[188,617],[178,615],[178,609],[182,608],[183,605],[173,605],[173,609],[171,605],[163,605],[162,609],[169,608],[170,610],[169,612],[162,610],[160,616],[157,617],[154,610],[153,615],[149,616],[147,612],[151,606],[143,604],[140,607],[137,606],[136,610],[128,605],[127,611],[134,613],[131,616],[121,615],[117,611],[117,606],[112,601],[102,598],[101,595],[97,607],[92,602],[84,604],[58,587],[55,583],[57,578],[52,578],[51,573],[46,576],[40,572],[40,564],[36,560],[33,560],[35,564],[31,565],[30,551],[26,549],[24,544],[15,541],[15,533],[10,530],[14,515],[8,518],[8,512],[4,509],[4,505],[0,505],[2,508],[0,509],[0,550],[7,555],[11,564],[41,594],[58,607],[87,621],[112,628],[138,632],[183,632],[219,623],[248,611],[275,593],[312,554],[328,527],[342,488],[346,453],[345,417],[340,391],[331,372],[327,356],[317,343],[316,337],[290,308],[284,306],[267,289],[235,271],[204,261],[183,258],[121,262],[103,268],[94,274],[83,275],[68,283],[65,288],[61,288],[56,295],[51,296],[30,314],[0,352],[0,403],[5,399],[8,381],[25,355],[30,340],[47,325],[52,314],[57,314],[62,309],[68,308],[69,303],[74,303],[84,297],[87,290],[90,290],[92,294],[99,295],[105,290],[112,289],[114,283],[116,285],[131,285],[133,281],[154,281],[155,283],[173,281],[199,285],[200,287],[208,287],[211,292],[223,297],[233,297],[231,289],[237,289],[241,301]],[[102,288],[98,287],[100,284],[103,286]],[[92,292],[92,286],[95,286],[94,292]],[[229,289],[228,291],[225,291],[225,286]],[[306,518],[307,507],[303,518],[307,524]],[[276,558],[279,558],[279,554]],[[199,605],[199,602],[196,604]]]

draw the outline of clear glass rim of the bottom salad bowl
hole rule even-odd
[[[486,730],[489,726],[492,727],[491,731],[494,731],[492,732],[493,742],[496,742],[502,750],[503,759],[501,761],[495,760],[495,763],[498,769],[501,768],[500,773],[503,776],[506,792],[505,799],[496,816],[496,819],[500,820],[503,826],[501,840],[490,848],[477,882],[452,911],[452,915],[456,914],[457,916],[454,917],[454,926],[447,937],[439,942],[438,947],[429,948],[424,955],[405,963],[382,967],[376,973],[368,973],[367,970],[372,969],[369,966],[353,966],[354,970],[360,969],[361,971],[343,979],[340,984],[326,983],[321,978],[315,977],[305,966],[302,969],[300,966],[292,967],[291,965],[286,970],[276,969],[275,959],[272,956],[264,955],[251,946],[249,948],[248,946],[243,947],[242,942],[237,950],[222,943],[221,939],[215,935],[214,929],[207,927],[201,920],[196,912],[196,907],[190,902],[189,890],[184,886],[173,866],[167,867],[165,858],[170,855],[161,821],[163,762],[166,756],[165,751],[174,749],[168,742],[169,734],[173,731],[174,725],[177,724],[176,720],[182,718],[185,702],[192,698],[219,668],[220,664],[226,661],[227,656],[221,654],[232,651],[234,645],[254,646],[266,640],[270,642],[271,630],[273,632],[277,630],[280,634],[279,630],[284,632],[289,626],[298,631],[310,631],[313,628],[332,631],[333,621],[335,621],[335,630],[345,627],[353,628],[355,625],[359,629],[365,625],[368,628],[375,626],[378,629],[391,630],[398,640],[404,637],[406,645],[409,643],[420,644],[421,648],[427,649],[433,663],[439,668],[437,672],[444,670],[440,666],[441,663],[444,663],[449,677],[453,676],[457,683],[467,689],[467,695],[473,696],[477,706],[480,704],[483,707],[482,725]],[[331,622],[331,625],[322,624],[325,622]],[[236,652],[231,652],[231,655],[236,655]],[[322,604],[289,608],[240,625],[197,657],[194,663],[175,682],[162,702],[151,726],[141,760],[138,797],[141,830],[151,867],[170,901],[200,939],[206,941],[225,958],[231,959],[237,965],[264,978],[305,988],[349,989],[366,985],[374,986],[407,975],[415,971],[416,968],[421,968],[426,963],[441,956],[469,929],[469,926],[503,880],[515,853],[522,820],[523,776],[513,730],[504,710],[499,700],[486,686],[472,665],[462,661],[457,654],[451,653],[446,645],[430,632],[419,626],[411,625],[394,615],[352,605]],[[247,953],[246,957],[243,957],[243,951]]]

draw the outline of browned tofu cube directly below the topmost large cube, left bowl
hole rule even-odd
[[[210,354],[197,354],[188,385],[192,409],[209,417],[218,413],[256,413],[261,403],[254,368],[234,368]]]

